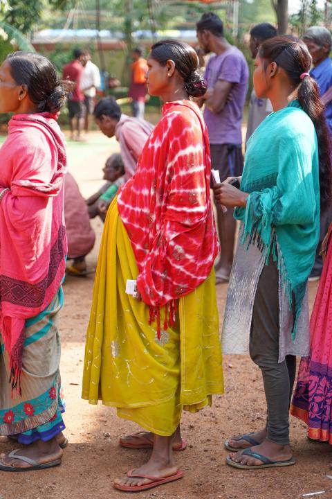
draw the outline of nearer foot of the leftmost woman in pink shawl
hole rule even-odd
[[[18,455],[25,457],[30,457],[39,464],[45,464],[48,462],[61,459],[63,450],[59,448],[57,444],[57,438],[54,437],[47,442],[42,440],[37,440],[24,448],[19,449]],[[21,459],[14,457],[8,457],[6,454],[0,455],[0,462],[5,466],[14,466],[15,468],[30,468],[31,464],[21,461]]]

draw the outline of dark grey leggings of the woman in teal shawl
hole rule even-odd
[[[268,406],[267,439],[289,444],[288,411],[293,392],[296,357],[279,358],[279,272],[272,256],[264,266],[255,296],[250,331],[250,357],[261,369]]]

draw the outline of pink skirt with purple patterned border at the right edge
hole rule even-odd
[[[331,225],[332,226],[332,225]],[[330,229],[331,229],[330,226]],[[332,444],[332,242],[310,321],[310,355],[302,357],[291,414],[308,425],[308,437]]]

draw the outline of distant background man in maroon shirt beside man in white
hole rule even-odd
[[[81,88],[84,54],[80,49],[74,50],[74,60],[66,64],[62,78],[75,83],[75,88],[68,99],[69,124],[71,140],[82,141],[81,132],[84,126],[84,94]]]

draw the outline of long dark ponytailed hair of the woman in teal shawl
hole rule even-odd
[[[326,209],[331,200],[331,146],[326,125],[324,105],[320,100],[317,83],[310,76],[300,78],[311,68],[311,55],[302,40],[291,36],[279,36],[261,44],[259,57],[276,62],[284,69],[288,79],[297,89],[297,98],[302,109],[315,125],[320,161],[320,206]]]

